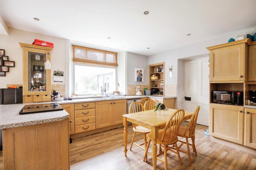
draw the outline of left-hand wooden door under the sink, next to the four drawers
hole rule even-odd
[[[95,128],[113,125],[113,101],[95,102]]]

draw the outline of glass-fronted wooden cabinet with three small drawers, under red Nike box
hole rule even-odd
[[[23,50],[24,102],[50,101],[51,70],[44,63],[51,61],[53,48],[19,43]]]

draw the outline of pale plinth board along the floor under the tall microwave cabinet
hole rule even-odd
[[[242,151],[246,151],[246,152],[249,152],[249,153],[252,153],[252,154],[256,153],[256,149],[253,149],[253,148],[250,148],[250,147],[247,147],[247,146],[243,146],[243,145],[240,145],[240,144],[237,144],[237,143],[233,143],[233,142],[230,142],[230,141],[227,141],[227,140],[224,140],[224,139],[220,139],[220,138],[210,136],[210,140],[212,140],[214,142],[217,142],[217,143],[221,143],[223,145],[227,145],[227,146],[232,147],[232,148],[240,149]]]

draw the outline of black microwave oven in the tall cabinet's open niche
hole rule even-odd
[[[213,102],[243,105],[243,91],[213,91]]]

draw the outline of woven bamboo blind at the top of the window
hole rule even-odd
[[[73,46],[73,62],[117,67],[117,53],[95,48]]]

